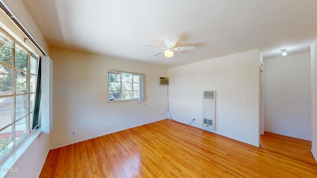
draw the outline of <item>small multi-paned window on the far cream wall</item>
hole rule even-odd
[[[108,100],[130,100],[143,97],[143,75],[108,72]]]

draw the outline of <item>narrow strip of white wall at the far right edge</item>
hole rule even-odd
[[[317,39],[311,45],[312,153],[317,161]]]

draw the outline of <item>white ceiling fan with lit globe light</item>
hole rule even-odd
[[[177,54],[176,51],[178,50],[194,50],[195,46],[181,46],[181,47],[175,47],[176,43],[178,42],[178,38],[176,37],[172,37],[171,39],[165,40],[164,41],[164,45],[165,47],[160,47],[160,46],[155,46],[155,45],[146,45],[149,47],[159,47],[161,49],[164,49],[162,51],[160,51],[157,54],[154,54],[154,56],[157,56],[159,54],[164,53],[165,57],[178,57],[179,54]]]

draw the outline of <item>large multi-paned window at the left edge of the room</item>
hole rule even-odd
[[[38,58],[0,32],[0,161],[31,131]]]

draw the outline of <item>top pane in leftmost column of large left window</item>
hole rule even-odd
[[[0,62],[13,66],[13,42],[0,33]]]

